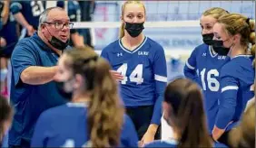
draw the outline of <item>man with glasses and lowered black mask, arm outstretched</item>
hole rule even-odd
[[[15,116],[9,133],[10,147],[30,147],[38,116],[65,103],[53,78],[57,60],[68,46],[72,26],[64,9],[48,8],[40,15],[38,32],[15,46],[11,57]]]

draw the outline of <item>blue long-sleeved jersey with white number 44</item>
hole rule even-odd
[[[154,106],[152,124],[160,124],[161,103],[167,83],[166,60],[162,46],[145,37],[133,51],[117,40],[102,51],[113,70],[120,72],[121,96],[126,107]]]

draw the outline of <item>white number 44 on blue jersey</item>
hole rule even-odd
[[[123,63],[121,67],[119,67],[116,71],[123,75],[122,84],[126,84],[128,78],[126,77],[128,65],[127,63]],[[137,85],[143,83],[143,64],[138,64],[129,77],[131,82],[135,82]]]

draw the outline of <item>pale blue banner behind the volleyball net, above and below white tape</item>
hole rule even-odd
[[[147,21],[182,21],[198,20],[206,9],[214,6],[222,7],[231,13],[245,14],[255,18],[255,2],[253,1],[144,1],[147,10]],[[108,3],[98,1],[94,12],[94,21],[119,22],[122,1]],[[118,39],[119,28],[95,29],[95,48],[102,50],[110,42]],[[192,51],[202,43],[201,28],[145,28],[145,35],[159,42],[165,50]]]

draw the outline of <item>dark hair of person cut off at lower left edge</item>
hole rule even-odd
[[[0,95],[0,144],[4,138],[4,123],[13,117],[14,110],[9,105],[7,99]]]

